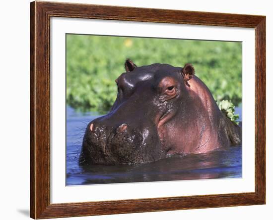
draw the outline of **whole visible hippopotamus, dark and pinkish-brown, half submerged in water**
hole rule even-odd
[[[108,114],[85,130],[80,165],[124,165],[241,144],[241,127],[217,106],[192,64],[136,66],[127,59]]]

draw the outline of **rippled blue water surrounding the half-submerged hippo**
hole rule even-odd
[[[241,108],[235,109],[241,119]],[[67,107],[67,185],[242,177],[242,148],[162,159],[142,165],[79,167],[82,137],[94,113]]]

